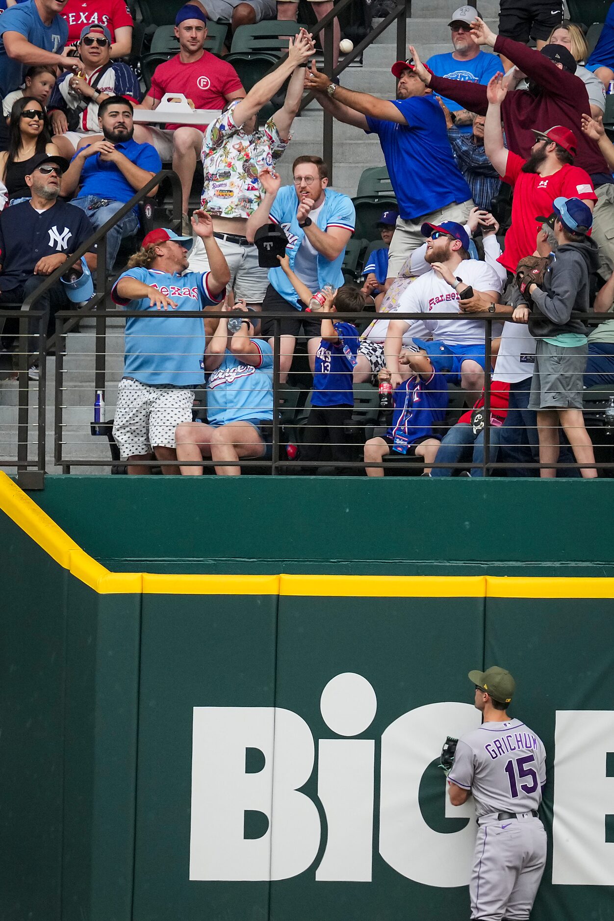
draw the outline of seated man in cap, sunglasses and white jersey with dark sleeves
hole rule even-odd
[[[83,61],[80,75],[65,73],[53,87],[48,111],[53,143],[70,159],[84,138],[99,137],[98,106],[110,96],[122,96],[133,105],[141,101],[141,89],[128,64],[110,60],[110,30],[94,23],[81,31],[78,43]]]

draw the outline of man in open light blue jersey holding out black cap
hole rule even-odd
[[[259,174],[264,198],[249,217],[246,235],[252,242],[256,230],[269,221],[279,224],[288,239],[286,254],[290,268],[309,291],[320,291],[325,285],[333,288],[343,284],[342,262],[345,247],[353,234],[355,211],[352,199],[330,189],[328,167],[321,157],[296,157],[292,167],[293,184],[280,189],[279,175],[272,169]],[[305,305],[280,266],[269,270],[269,287],[262,301],[262,310],[282,310],[282,321],[261,321],[262,336],[275,332],[280,322],[280,381],[287,379],[299,332],[307,337],[309,364],[313,372],[320,341],[320,321],[307,320]],[[310,316],[310,315],[308,315]],[[272,339],[270,340],[272,343]]]

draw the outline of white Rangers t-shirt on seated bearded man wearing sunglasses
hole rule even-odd
[[[501,279],[485,263],[477,259],[465,259],[454,270],[456,277],[470,285],[474,291],[497,291],[501,293]],[[425,314],[424,325],[434,339],[446,345],[474,345],[483,343],[486,324],[480,320],[467,320],[458,309],[459,297],[454,288],[432,269],[421,275],[403,291],[400,311]],[[458,313],[462,319],[437,320],[437,313]]]

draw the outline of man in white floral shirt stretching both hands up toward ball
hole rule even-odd
[[[288,56],[272,74],[249,90],[245,99],[231,102],[204,135],[201,158],[204,169],[203,210],[214,219],[214,237],[226,256],[235,297],[249,305],[261,305],[267,288],[267,269],[258,264],[258,251],[248,243],[248,217],[261,204],[258,174],[284,153],[290,126],[303,95],[308,58],[314,42],[305,29],[290,39]],[[292,75],[292,76],[291,76]],[[284,105],[261,128],[258,112],[290,76]],[[206,252],[200,240],[190,253],[191,272],[206,272]]]

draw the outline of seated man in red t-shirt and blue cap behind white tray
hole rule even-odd
[[[219,111],[226,102],[245,97],[245,90],[232,64],[226,64],[226,61],[204,50],[207,18],[198,6],[187,4],[180,8],[175,17],[175,35],[180,42],[180,52],[170,61],[158,64],[151,87],[139,108],[156,109],[165,93],[182,93],[194,109]],[[182,233],[191,233],[188,202],[205,128],[204,124],[168,124],[166,131],[145,125],[134,128],[135,141],[155,146],[163,160],[172,158],[173,169],[181,182]]]

